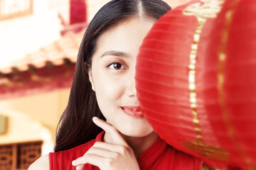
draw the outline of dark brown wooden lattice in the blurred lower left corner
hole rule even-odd
[[[42,141],[0,145],[0,170],[27,170],[41,157]]]

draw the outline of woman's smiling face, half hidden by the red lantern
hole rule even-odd
[[[153,132],[139,111],[135,64],[139,46],[152,22],[129,19],[103,33],[97,41],[89,72],[100,111],[124,135],[144,137]]]

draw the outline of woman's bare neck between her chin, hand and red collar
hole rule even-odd
[[[159,135],[156,132],[151,132],[149,135],[144,137],[130,137],[127,135],[123,135],[124,140],[128,143],[129,147],[134,151],[135,157],[139,157],[143,152],[146,151],[151,145],[158,140]],[[112,142],[112,139],[107,132],[104,135],[104,142]]]

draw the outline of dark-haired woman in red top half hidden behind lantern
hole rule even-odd
[[[159,138],[136,96],[139,46],[169,9],[161,0],[114,0],[98,11],[80,45],[55,152],[30,170],[201,168]]]

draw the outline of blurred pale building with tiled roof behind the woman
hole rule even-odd
[[[82,35],[107,1],[0,0],[0,170],[53,152]]]

